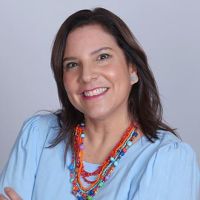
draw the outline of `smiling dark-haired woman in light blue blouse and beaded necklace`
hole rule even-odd
[[[119,17],[71,15],[51,64],[62,109],[25,122],[1,200],[198,199],[195,153],[162,121],[146,55]]]

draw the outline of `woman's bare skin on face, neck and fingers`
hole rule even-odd
[[[102,163],[133,120],[128,96],[138,81],[130,79],[137,76],[136,69],[127,63],[112,35],[99,25],[87,25],[69,34],[63,70],[68,98],[85,116],[84,160]],[[89,99],[82,95],[101,87],[108,88],[103,95]],[[12,188],[5,188],[5,194],[0,200],[22,200]]]

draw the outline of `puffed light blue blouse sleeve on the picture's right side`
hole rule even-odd
[[[130,200],[200,200],[199,190],[194,151],[186,143],[174,142],[153,154]]]

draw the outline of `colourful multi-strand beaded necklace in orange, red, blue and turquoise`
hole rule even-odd
[[[69,166],[69,170],[70,181],[72,183],[72,194],[78,200],[94,199],[95,194],[104,186],[104,183],[109,179],[114,168],[117,167],[121,157],[124,156],[128,148],[141,137],[141,134],[136,132],[136,129],[137,127],[131,124],[103,164],[100,165],[97,170],[87,172],[85,171],[83,164],[85,125],[80,124],[76,126],[74,135],[74,153],[72,154],[72,162]],[[89,180],[88,178],[91,176],[95,176],[96,179],[93,181]],[[89,185],[88,187],[83,186],[81,178]]]

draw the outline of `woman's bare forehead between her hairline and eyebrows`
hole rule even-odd
[[[93,51],[103,46],[119,48],[115,38],[100,25],[85,25],[69,33],[65,54]]]

